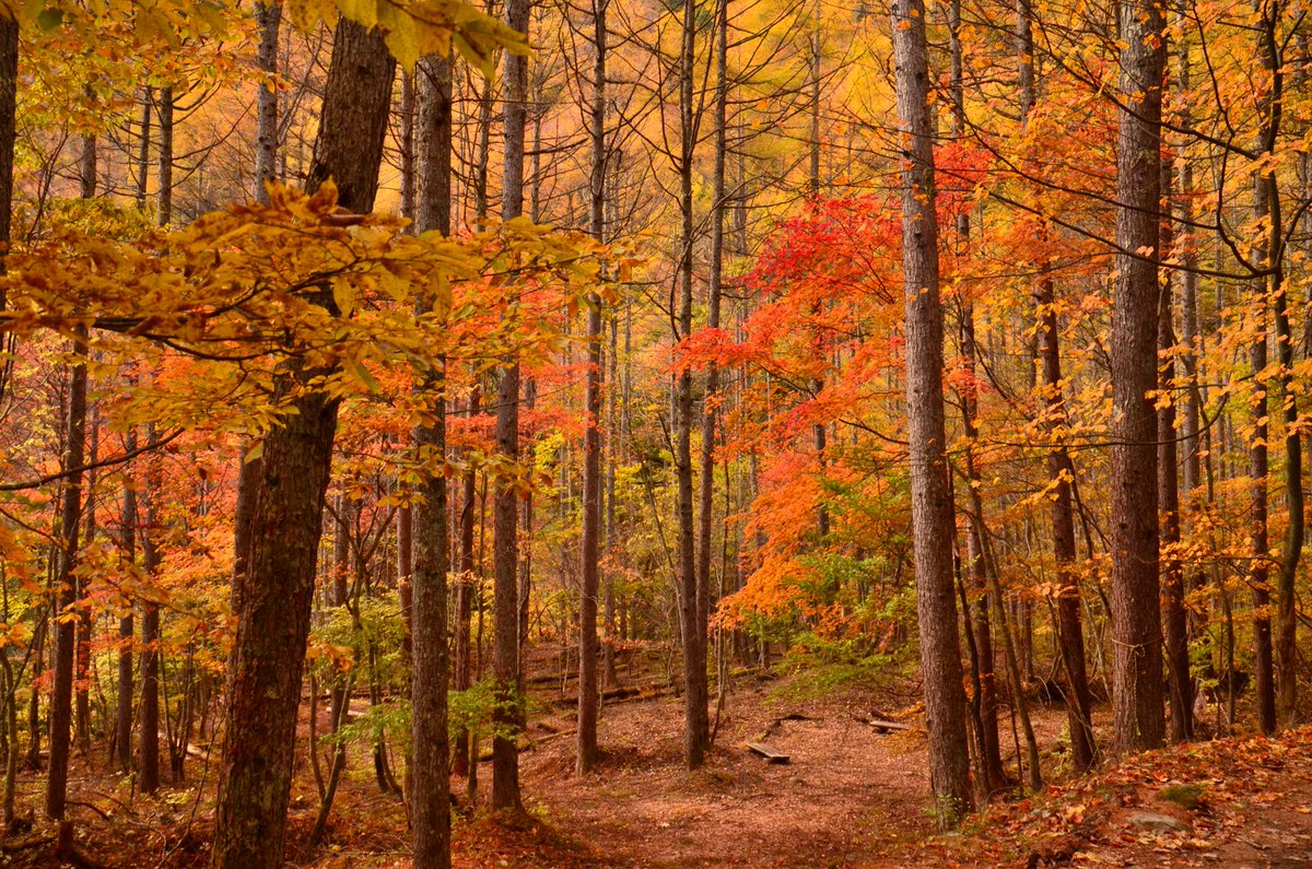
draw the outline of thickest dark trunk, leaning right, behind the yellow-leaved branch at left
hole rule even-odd
[[[395,62],[378,32],[337,25],[307,186],[328,177],[338,203],[373,209]],[[325,306],[331,298],[321,299]],[[295,410],[265,437],[251,480],[248,549],[228,663],[228,711],[211,865],[282,865],[297,708],[332,466],[338,400],[312,386],[323,371],[289,362],[274,381]]]

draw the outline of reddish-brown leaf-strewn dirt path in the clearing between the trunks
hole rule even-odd
[[[762,685],[740,689],[710,763],[689,773],[678,698],[615,704],[600,726],[606,756],[597,776],[575,777],[573,739],[562,735],[525,755],[526,793],[548,823],[613,865],[849,865],[932,827],[924,739],[858,722],[872,706],[859,692],[799,701],[771,698]],[[564,734],[568,711],[548,726]],[[749,753],[754,740],[790,763]]]

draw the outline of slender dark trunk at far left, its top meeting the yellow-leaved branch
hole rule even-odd
[[[73,702],[73,642],[77,621],[73,614],[77,583],[73,567],[77,561],[81,529],[83,471],[87,461],[87,328],[79,327],[73,352],[81,361],[73,364],[68,378],[68,415],[64,420],[63,501],[59,512],[59,570],[55,575],[55,679],[50,694],[50,774],[46,778],[46,815],[63,818],[68,799],[68,750],[71,744]]]

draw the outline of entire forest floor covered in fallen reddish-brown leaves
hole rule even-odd
[[[516,823],[483,813],[459,818],[454,865],[1312,868],[1312,727],[1275,740],[1232,738],[1140,755],[1026,799],[996,802],[962,831],[935,835],[918,685],[883,680],[815,693],[815,681],[807,672],[740,679],[708,763],[695,773],[682,764],[678,697],[607,704],[604,756],[586,780],[573,774],[572,708],[555,690],[539,690],[521,761],[529,815]],[[912,727],[882,734],[861,721],[871,717]],[[1060,708],[1035,709],[1044,773],[1057,781],[1064,726]],[[790,761],[768,764],[748,742],[765,742]],[[1014,769],[1014,747],[1004,753]],[[489,769],[480,772],[485,786]],[[215,771],[193,763],[190,774],[205,785],[134,798],[127,780],[75,767],[71,816],[83,865],[206,865]],[[42,785],[43,777],[24,774],[21,810],[39,806]],[[325,844],[304,853],[316,807],[315,784],[299,769],[293,865],[409,865],[401,805],[379,792],[366,755],[352,757]],[[59,865],[51,847],[39,844],[51,832],[38,823],[0,844],[0,866]]]

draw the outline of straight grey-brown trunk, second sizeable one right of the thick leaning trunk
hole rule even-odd
[[[520,33],[529,32],[530,0],[506,0],[505,24]],[[523,134],[527,122],[529,60],[516,54],[505,55],[505,139],[501,173],[501,219],[523,214]],[[496,441],[497,452],[509,462],[520,459],[520,361],[506,358],[497,385]],[[520,811],[520,753],[516,738],[520,722],[517,685],[520,676],[518,614],[518,495],[509,480],[499,480],[493,505],[492,595],[496,648],[497,706],[492,738],[492,807]]]

